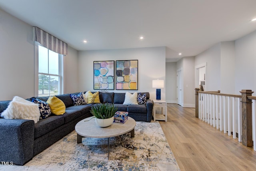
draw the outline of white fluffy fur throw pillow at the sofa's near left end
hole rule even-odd
[[[39,121],[40,111],[38,104],[15,96],[9,103],[7,109],[1,113],[5,119],[30,119],[35,123]]]

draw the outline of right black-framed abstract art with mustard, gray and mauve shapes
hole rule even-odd
[[[138,60],[116,61],[116,89],[138,90]]]

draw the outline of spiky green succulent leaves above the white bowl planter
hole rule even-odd
[[[96,118],[108,119],[113,117],[117,111],[117,107],[110,103],[100,103],[98,105],[92,106],[90,112]]]

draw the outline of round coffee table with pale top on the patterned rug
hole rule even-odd
[[[125,133],[131,133],[131,137],[134,137],[134,127],[136,121],[131,117],[125,123],[113,122],[112,125],[108,127],[100,127],[96,125],[95,120],[92,117],[88,117],[79,121],[75,130],[77,133],[77,143],[82,143],[83,137],[90,138],[108,138],[108,157],[109,157],[109,139],[110,137],[116,137],[118,135],[123,135]]]

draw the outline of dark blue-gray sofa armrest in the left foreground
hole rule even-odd
[[[0,161],[24,165],[33,157],[34,121],[0,119]]]

